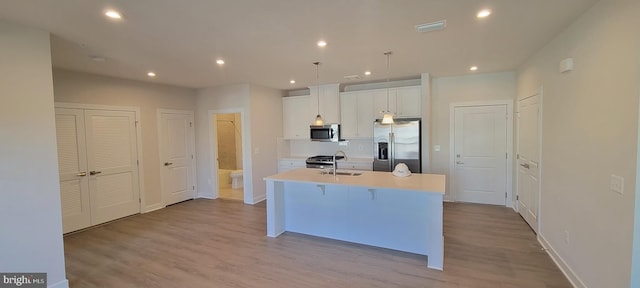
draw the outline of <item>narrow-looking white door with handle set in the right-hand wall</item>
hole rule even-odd
[[[535,232],[540,193],[539,119],[537,95],[518,101],[518,213]]]

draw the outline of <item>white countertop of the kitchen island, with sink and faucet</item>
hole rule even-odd
[[[391,172],[338,169],[338,172],[347,171],[362,173],[362,175],[337,175],[334,178],[333,174],[323,174],[322,171],[321,169],[299,168],[265,177],[264,180],[445,193],[445,175],[411,174],[408,177],[396,177]]]

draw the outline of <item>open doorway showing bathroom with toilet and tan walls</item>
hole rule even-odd
[[[241,114],[215,114],[213,118],[218,154],[218,197],[243,201]]]

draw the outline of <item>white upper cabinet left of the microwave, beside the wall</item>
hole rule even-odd
[[[309,139],[309,125],[315,114],[309,111],[310,97],[282,97],[282,128],[284,139]]]

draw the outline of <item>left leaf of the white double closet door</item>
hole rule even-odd
[[[91,226],[84,111],[56,109],[58,170],[64,233]]]

